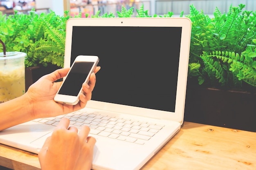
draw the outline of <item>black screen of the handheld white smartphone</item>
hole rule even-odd
[[[93,64],[94,62],[74,62],[58,94],[77,96]]]

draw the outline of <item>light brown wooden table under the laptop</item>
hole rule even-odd
[[[40,169],[36,154],[2,144],[0,166]],[[256,132],[185,122],[141,170],[256,170]]]

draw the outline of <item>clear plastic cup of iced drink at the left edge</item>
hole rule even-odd
[[[7,102],[25,93],[26,53],[0,53],[0,103]]]

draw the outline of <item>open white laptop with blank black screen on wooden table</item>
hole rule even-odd
[[[188,18],[71,18],[64,67],[78,55],[99,57],[92,100],[77,112],[3,130],[0,143],[37,154],[65,116],[97,139],[92,169],[139,170],[182,126],[190,38]]]

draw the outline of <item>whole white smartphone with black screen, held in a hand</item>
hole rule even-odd
[[[79,102],[79,95],[83,93],[83,82],[89,82],[90,75],[94,72],[98,62],[99,57],[97,56],[77,56],[54,100],[62,104],[76,105]]]

